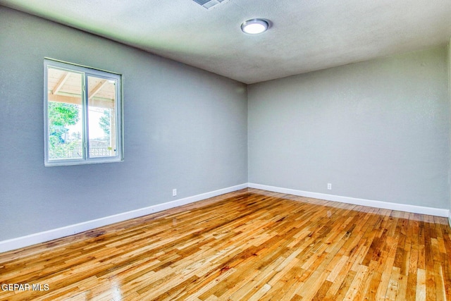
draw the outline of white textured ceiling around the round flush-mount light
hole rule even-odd
[[[447,44],[451,0],[0,0],[245,83]],[[260,35],[240,30],[271,20]]]

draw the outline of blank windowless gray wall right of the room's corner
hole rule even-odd
[[[448,209],[449,103],[445,46],[249,85],[249,183]]]

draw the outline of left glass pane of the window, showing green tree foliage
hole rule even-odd
[[[49,160],[80,159],[82,153],[82,75],[49,67]]]

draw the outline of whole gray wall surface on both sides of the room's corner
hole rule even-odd
[[[246,87],[2,6],[0,20],[0,240],[248,181],[451,208],[446,47]],[[123,73],[125,161],[44,167],[44,56]]]

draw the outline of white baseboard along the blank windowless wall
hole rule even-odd
[[[450,225],[451,225],[450,210],[447,210],[447,209],[373,201],[370,199],[357,199],[354,197],[341,197],[339,195],[328,195],[326,193],[308,192],[308,191],[294,190],[294,189],[289,189],[289,188],[280,188],[280,187],[275,187],[275,186],[260,185],[260,184],[254,184],[254,183],[249,183],[248,185],[249,185],[249,188],[257,188],[257,189],[261,189],[261,190],[286,193],[288,195],[298,195],[300,197],[312,197],[314,199],[325,199],[326,201],[342,202],[342,203],[346,203],[346,204],[362,205],[362,206],[376,207],[376,208],[381,208],[381,209],[390,209],[390,210],[405,211],[405,212],[411,212],[411,213],[417,213],[417,214],[427,214],[427,215],[433,215],[433,216],[448,217],[450,219]]]

